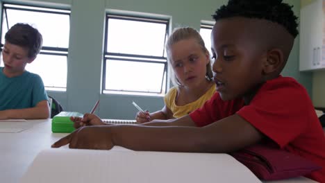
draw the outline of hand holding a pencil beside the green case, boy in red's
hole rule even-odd
[[[103,123],[99,116],[96,116],[95,114],[85,114],[83,115],[83,118],[72,116],[70,119],[71,121],[74,121],[74,128],[76,129],[88,125],[106,125],[106,123]]]

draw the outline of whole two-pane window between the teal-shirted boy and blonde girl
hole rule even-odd
[[[167,19],[106,16],[103,93],[164,95]]]

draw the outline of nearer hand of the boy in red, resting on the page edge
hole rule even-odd
[[[110,150],[114,144],[109,129],[108,126],[78,128],[71,134],[53,143],[51,147],[60,148],[69,144],[69,148]]]

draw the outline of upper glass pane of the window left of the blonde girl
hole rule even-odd
[[[166,24],[108,18],[107,51],[163,56]]]

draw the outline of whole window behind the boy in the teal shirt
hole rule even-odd
[[[26,23],[38,28],[43,47],[33,63],[27,64],[26,70],[38,73],[47,90],[66,91],[67,88],[69,17],[69,10],[3,3],[1,50],[4,36],[14,24]]]

